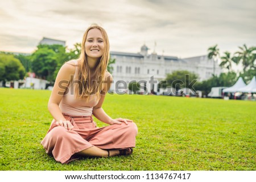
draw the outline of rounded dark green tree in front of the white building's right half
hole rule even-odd
[[[197,79],[198,76],[195,73],[191,73],[187,70],[178,70],[167,74],[166,81],[160,81],[159,87],[166,88],[167,86],[171,86],[178,91],[180,88],[192,88],[193,83],[195,83]]]

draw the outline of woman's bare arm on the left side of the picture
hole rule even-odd
[[[65,63],[63,66],[61,66],[48,101],[48,110],[55,121],[57,121],[57,125],[64,126],[66,129],[69,127],[72,128],[72,125],[70,122],[66,121],[65,117],[60,111],[59,104],[65,91],[67,90],[69,82],[71,81],[71,75],[74,75],[74,73],[75,65]]]

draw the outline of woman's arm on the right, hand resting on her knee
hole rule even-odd
[[[107,83],[104,83],[103,90],[101,91],[101,98],[98,101],[98,104],[95,107],[93,107],[93,115],[98,120],[100,120],[102,122],[105,122],[106,124],[110,124],[110,125],[121,124],[122,122],[125,122],[125,124],[127,124],[127,121],[133,122],[131,120],[127,120],[127,119],[123,119],[123,118],[113,119],[110,116],[108,116],[105,113],[104,109],[102,108],[102,104],[104,103],[104,99],[105,99],[106,93],[108,92],[108,90],[109,90],[109,88],[111,86],[112,81],[113,81],[112,75],[107,72],[106,73],[106,82]]]

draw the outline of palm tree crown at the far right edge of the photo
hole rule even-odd
[[[240,48],[240,51],[234,53],[235,56],[233,61],[236,62],[236,64],[242,62],[243,72],[250,69],[251,67],[255,67],[254,62],[256,60],[256,47],[252,46],[247,48],[247,46],[243,44],[243,46],[238,46],[238,48]]]

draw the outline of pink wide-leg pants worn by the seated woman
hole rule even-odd
[[[74,128],[66,130],[63,126],[57,126],[55,120],[42,140],[41,144],[47,154],[52,154],[57,162],[68,163],[76,159],[76,153],[97,146],[100,149],[124,149],[135,147],[135,137],[138,129],[134,122],[128,125],[109,125],[97,128],[92,116],[64,117],[71,121]]]

